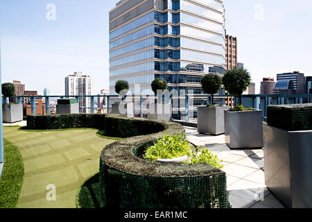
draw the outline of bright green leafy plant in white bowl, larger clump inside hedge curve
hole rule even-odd
[[[157,159],[173,159],[184,155],[191,155],[191,144],[184,133],[178,135],[164,135],[154,146],[150,146],[144,159],[155,162]]]

